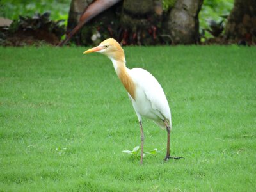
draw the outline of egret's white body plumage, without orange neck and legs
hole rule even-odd
[[[169,104],[156,78],[142,68],[133,68],[128,73],[136,84],[135,100],[128,95],[138,120],[142,121],[141,116],[145,116],[162,128],[166,128],[163,121],[167,120],[172,127]]]

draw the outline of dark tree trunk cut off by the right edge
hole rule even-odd
[[[236,0],[225,29],[227,39],[256,43],[256,1]]]

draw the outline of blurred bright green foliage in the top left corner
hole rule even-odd
[[[51,12],[52,20],[65,20],[67,25],[69,0],[1,0],[0,16],[17,20],[19,15],[33,16],[35,13]]]

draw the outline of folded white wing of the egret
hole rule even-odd
[[[171,120],[170,108],[163,88],[156,78],[142,68],[133,68],[130,70],[132,79],[136,85],[143,90],[147,99],[150,101],[154,110],[161,113],[165,119]]]

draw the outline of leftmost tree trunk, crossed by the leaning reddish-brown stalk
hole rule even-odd
[[[106,6],[106,4],[101,4],[100,2],[102,3],[102,1],[95,0],[72,0],[68,15],[68,32],[78,24],[80,19],[82,19],[81,15],[83,15],[84,10],[92,3],[97,3],[98,8],[100,8],[100,6]],[[109,37],[118,40],[118,36],[120,36],[121,8],[122,1],[113,4],[113,6],[104,10],[104,12],[99,13],[90,19],[90,21],[86,22],[86,24],[79,29],[78,33],[71,38],[71,41],[75,42],[76,45],[97,45],[102,40]]]

